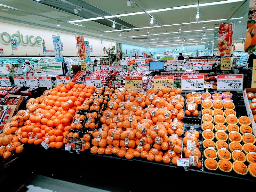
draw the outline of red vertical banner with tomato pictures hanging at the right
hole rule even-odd
[[[218,56],[231,56],[233,24],[220,24],[218,37]]]

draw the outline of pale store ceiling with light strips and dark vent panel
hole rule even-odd
[[[220,23],[235,23],[235,42],[242,42],[249,1],[199,0],[197,23],[197,0],[134,0],[131,6],[126,0],[0,0],[0,19],[150,48],[173,43],[212,48]]]

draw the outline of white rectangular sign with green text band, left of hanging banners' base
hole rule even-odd
[[[62,62],[35,63],[35,75],[63,75]]]

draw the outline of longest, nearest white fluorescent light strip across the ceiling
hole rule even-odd
[[[199,4],[199,7],[210,6],[210,5],[219,5],[219,4],[228,4],[228,3],[236,3],[236,2],[241,2],[241,1],[244,1],[244,0],[227,0],[227,1],[212,2],[212,3],[202,3],[202,4]],[[192,7],[197,7],[197,4],[185,5],[185,6],[179,6],[179,7],[171,7],[171,8],[165,8],[165,9],[156,9],[156,10],[151,10],[151,11],[147,11],[147,12],[148,13],[155,13],[155,12],[163,12],[163,11],[170,11],[170,10],[187,9],[187,8],[192,8]],[[125,13],[125,14],[120,14],[120,15],[109,15],[109,16],[105,16],[105,17],[106,18],[114,18],[114,17],[124,17],[124,16],[139,15],[139,14],[146,14],[146,13],[145,12],[134,12],[134,13]],[[73,21],[70,21],[70,22],[76,23],[76,22],[99,20],[99,19],[103,19],[103,18],[102,17],[95,17],[95,18],[91,18],[91,19],[73,20]]]

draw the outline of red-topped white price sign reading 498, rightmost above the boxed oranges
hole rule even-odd
[[[242,91],[244,75],[218,75],[217,91]]]

